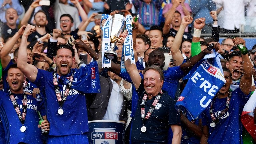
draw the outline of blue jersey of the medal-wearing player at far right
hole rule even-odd
[[[240,120],[244,105],[249,99],[240,87],[231,94],[229,110],[220,118],[215,127],[211,127],[212,122],[209,110],[210,105],[202,113],[202,125],[209,128],[209,144],[241,144],[242,143],[242,123]],[[216,98],[213,101],[213,114],[217,117],[226,108],[227,98]]]

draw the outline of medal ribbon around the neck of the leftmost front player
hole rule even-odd
[[[25,94],[25,92],[23,92],[23,100],[22,100],[22,113],[20,112],[20,108],[18,106],[18,103],[13,95],[13,93],[10,91],[10,99],[12,101],[13,107],[18,115],[18,118],[21,122],[21,124],[23,125],[25,122],[25,118],[26,118],[26,114],[27,114],[27,95]]]

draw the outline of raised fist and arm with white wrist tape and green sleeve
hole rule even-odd
[[[194,21],[194,34],[191,44],[191,56],[195,56],[201,52],[200,37],[201,31],[205,26],[205,18],[198,18]]]

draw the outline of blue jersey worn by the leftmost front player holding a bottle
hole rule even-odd
[[[13,94],[22,113],[23,94]],[[0,91],[0,117],[3,123],[6,143],[17,144],[19,142],[30,144],[42,144],[42,131],[38,128],[39,117],[37,111],[45,115],[42,101],[36,101],[32,95],[27,95],[27,113],[24,122],[25,132],[21,132],[22,124],[13,107],[9,94]]]

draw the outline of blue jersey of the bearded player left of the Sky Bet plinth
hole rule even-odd
[[[89,131],[85,93],[100,92],[98,64],[94,61],[80,69],[71,69],[68,75],[61,77],[57,75],[61,97],[65,93],[71,73],[74,73],[74,80],[63,104],[62,115],[58,114],[60,106],[53,85],[52,73],[38,69],[34,82],[39,87],[43,99],[46,100],[47,119],[51,124],[49,135],[52,136],[82,134]]]

